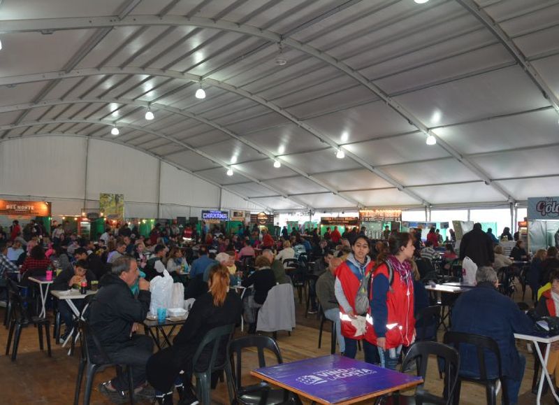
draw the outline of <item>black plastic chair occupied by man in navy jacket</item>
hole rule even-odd
[[[497,342],[488,336],[463,332],[447,332],[444,334],[444,343],[453,346],[458,352],[460,352],[461,345],[474,346],[476,348],[477,362],[479,364],[479,377],[463,376],[458,373],[458,384],[456,385],[456,395],[454,397],[455,405],[458,405],[458,401],[460,400],[460,386],[462,381],[470,381],[471,383],[485,385],[488,405],[497,405],[497,381],[501,381],[502,402],[503,404],[509,404],[507,379],[504,378],[502,374],[501,353]],[[492,353],[497,359],[498,376],[495,378],[488,376],[485,363],[487,352]]]

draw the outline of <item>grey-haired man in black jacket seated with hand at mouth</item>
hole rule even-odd
[[[133,258],[123,256],[115,260],[111,272],[101,279],[101,288],[89,307],[89,325],[112,362],[132,367],[134,386],[141,390],[153,341],[149,336],[133,334],[150,310],[150,283],[139,279],[138,299],[130,290],[139,275]],[[91,342],[89,346],[94,347]],[[124,391],[128,387],[126,381],[113,378],[99,389],[105,393]]]

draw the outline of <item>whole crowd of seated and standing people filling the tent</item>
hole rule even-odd
[[[456,276],[460,283],[461,262],[468,257],[477,266],[477,287],[471,286],[453,302],[451,330],[491,334],[500,348],[503,389],[510,404],[518,402],[525,367],[513,334],[534,331],[533,321],[507,297],[510,288],[528,286],[537,313],[558,313],[557,248],[530,255],[518,240],[504,255],[500,241],[514,239],[508,228],[497,238],[491,229],[484,232],[475,224],[463,235],[458,252],[455,234],[443,239],[435,228],[424,241],[421,229],[413,228],[399,232],[385,227],[379,239],[370,239],[365,227],[347,227],[343,232],[337,226],[323,232],[318,227],[304,231],[293,227],[289,232],[287,227],[255,224],[226,232],[223,225],[203,222],[199,229],[158,223],[142,236],[125,222],[107,226],[99,239],[91,241],[63,225],[55,225],[48,234],[34,221],[21,227],[15,220],[10,229],[0,229],[2,283],[17,275],[22,285],[29,286],[29,277],[46,275],[54,278],[51,291],[82,283],[89,288],[99,285],[89,306],[92,331],[115,361],[131,366],[135,391],[139,394],[149,382],[161,404],[172,403],[173,387],[180,391],[181,404],[197,403],[191,390],[191,363],[198,344],[213,328],[241,317],[247,332],[256,333],[259,310],[277,285],[308,289],[305,311],[319,311],[333,322],[342,355],[354,358],[362,346],[365,362],[395,370],[416,340],[437,340],[438,323],[420,315],[433,303],[429,288],[433,290],[442,276]],[[184,299],[192,299],[194,305],[173,346],[153,354],[153,342],[133,332],[148,316],[150,283],[159,276],[182,284]],[[238,294],[240,290],[243,294]],[[85,300],[72,301],[79,311],[84,308]],[[487,308],[500,319],[500,326],[486,316]],[[65,325],[60,341],[66,341],[75,314],[64,300],[57,311]],[[422,336],[417,334],[418,317]],[[470,349],[460,348],[460,372],[475,376],[479,364]],[[550,358],[555,360],[548,362],[548,371],[559,376],[559,350],[552,350]],[[490,374],[498,373],[495,359],[488,360],[487,367]],[[118,376],[99,389],[110,396],[127,387]]]

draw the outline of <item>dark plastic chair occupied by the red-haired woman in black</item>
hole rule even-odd
[[[212,374],[215,371],[223,371],[226,369],[227,358],[222,364],[216,364],[219,348],[224,348],[226,350],[226,345],[231,340],[233,332],[235,331],[235,324],[215,327],[205,334],[204,338],[198,345],[194,357],[192,357],[192,364],[194,364],[194,378],[196,378],[196,397],[201,400],[203,405],[210,405],[210,388],[212,382]],[[196,364],[200,359],[200,355],[206,346],[212,344],[212,355],[210,356],[210,361],[208,362],[208,367],[205,370],[198,371],[196,369]]]

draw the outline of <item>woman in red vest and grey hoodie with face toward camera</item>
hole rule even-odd
[[[355,297],[361,280],[370,273],[374,262],[368,256],[367,236],[359,235],[352,241],[351,250],[352,253],[349,253],[347,260],[336,269],[334,292],[340,305],[340,325],[345,342],[344,356],[354,359],[357,353],[357,341],[363,340],[365,329],[365,314],[356,313]],[[375,346],[366,341],[363,341],[363,352],[365,362],[373,363],[378,358]]]

